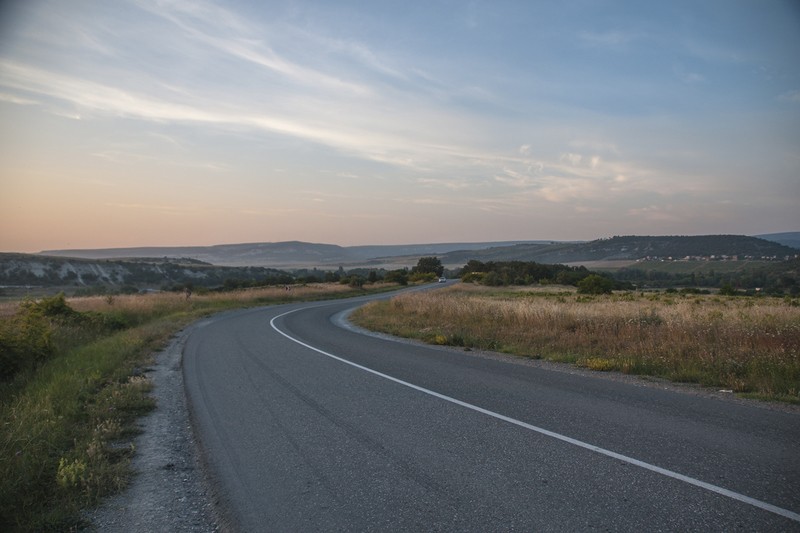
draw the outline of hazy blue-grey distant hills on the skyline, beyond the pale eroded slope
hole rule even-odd
[[[779,234],[791,241],[792,235]],[[777,238],[777,237],[776,237]],[[50,250],[40,255],[92,260],[150,258],[149,262],[189,260],[215,266],[252,266],[278,269],[336,269],[414,266],[423,256],[437,256],[449,268],[478,261],[536,261],[538,263],[587,263],[644,258],[750,258],[781,260],[800,249],[744,235],[618,236],[590,242],[510,241],[439,243],[385,246],[337,246],[299,241],[222,244],[193,247],[110,248],[98,250]]]

